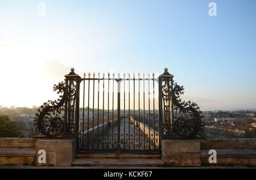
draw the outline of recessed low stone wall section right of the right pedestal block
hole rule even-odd
[[[207,166],[256,166],[256,139],[200,140],[201,164]],[[209,150],[216,150],[217,162],[209,162]]]

